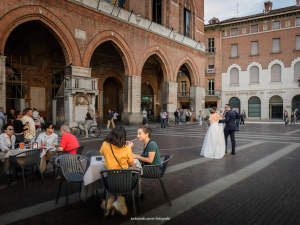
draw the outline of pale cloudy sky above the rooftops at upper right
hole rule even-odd
[[[205,24],[217,17],[220,21],[237,17],[237,3],[239,4],[239,17],[262,13],[264,2],[267,0],[204,0]],[[270,0],[273,9],[296,5],[296,0]]]

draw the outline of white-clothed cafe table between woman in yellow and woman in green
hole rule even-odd
[[[100,181],[100,172],[106,170],[105,159],[102,157],[101,161],[97,161],[97,157],[92,156],[91,163],[83,177],[83,187],[81,190],[81,198],[85,201],[88,197],[94,194],[95,190],[102,189],[102,182]],[[142,165],[138,159],[134,159],[133,167],[128,167],[128,169],[140,170],[143,173]],[[140,185],[138,185],[140,187]]]

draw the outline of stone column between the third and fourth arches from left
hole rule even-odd
[[[174,112],[177,108],[177,89],[178,83],[176,82],[162,83],[162,109],[167,110],[172,119],[175,119]]]

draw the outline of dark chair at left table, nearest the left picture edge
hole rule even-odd
[[[45,184],[44,177],[43,177],[43,174],[42,174],[42,172],[40,170],[40,166],[39,166],[39,163],[41,161],[41,156],[40,156],[41,151],[42,150],[40,150],[40,149],[34,149],[34,150],[21,152],[17,155],[10,155],[9,156],[9,163],[10,163],[9,179],[10,179],[10,182],[11,182],[11,169],[12,169],[12,166],[14,166],[15,168],[21,168],[22,169],[22,175],[23,175],[23,185],[24,185],[24,189],[25,189],[24,168],[30,167],[31,172],[32,172],[32,177],[33,177],[33,175],[34,175],[33,174],[33,169],[36,166],[36,169],[40,172],[43,183]],[[18,159],[17,159],[17,156],[21,155],[21,154],[25,154],[24,164],[19,164]]]

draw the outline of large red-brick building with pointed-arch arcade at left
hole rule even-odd
[[[88,106],[101,122],[113,109],[140,124],[142,107],[177,108],[184,76],[188,107],[202,109],[204,0],[119,2],[1,1],[0,105],[58,125],[84,120]]]

